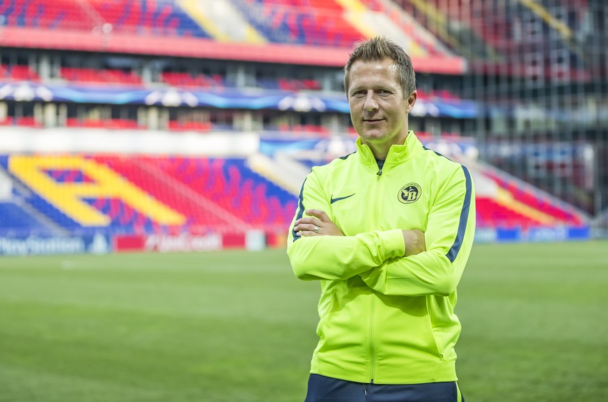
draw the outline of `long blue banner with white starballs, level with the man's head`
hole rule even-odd
[[[2,82],[0,100],[105,103],[109,105],[162,105],[166,107],[212,107],[217,109],[274,109],[334,111],[348,114],[343,93],[307,93],[261,88],[144,88],[83,84]],[[463,99],[419,99],[412,116],[476,118],[477,102]]]

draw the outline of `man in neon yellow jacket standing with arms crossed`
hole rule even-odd
[[[453,311],[471,175],[408,130],[417,94],[401,47],[361,42],[344,72],[357,151],[312,169],[288,239],[295,275],[322,291],[305,402],[462,401]]]

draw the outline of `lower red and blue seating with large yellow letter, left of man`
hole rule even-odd
[[[243,227],[284,229],[295,210],[295,196],[247,168],[244,160],[186,157],[13,157],[3,158],[11,178],[26,188],[15,199],[36,209],[62,229],[75,233],[205,233]],[[93,163],[93,165],[91,164]],[[69,169],[62,167],[68,165]],[[53,169],[43,169],[46,166]],[[86,172],[109,168],[107,176]],[[52,179],[51,187],[47,180]],[[120,185],[120,183],[129,183]],[[89,185],[87,190],[83,185]],[[55,192],[62,192],[57,197]],[[141,195],[139,194],[141,192]],[[134,203],[154,199],[159,206]],[[101,220],[86,203],[101,212]],[[78,206],[72,208],[69,206]],[[169,210],[166,210],[169,208]],[[2,214],[6,214],[6,219]],[[17,214],[18,216],[15,216]],[[0,209],[6,231],[40,226],[21,219],[14,203]],[[107,218],[107,219],[106,219]],[[21,222],[17,224],[15,222]]]

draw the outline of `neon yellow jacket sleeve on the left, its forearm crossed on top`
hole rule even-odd
[[[334,220],[314,169],[300,190],[287,240],[287,254],[299,279],[348,279],[382,265],[389,258],[405,254],[400,229],[354,236],[300,236],[293,231],[294,222],[307,216],[304,211],[311,208],[324,210],[329,219]]]

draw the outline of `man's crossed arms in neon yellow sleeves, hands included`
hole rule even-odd
[[[464,181],[455,175],[442,189],[424,233],[392,229],[345,236],[325,211],[301,211],[309,216],[293,222],[288,242],[295,275],[304,280],[358,275],[386,295],[450,295],[469,258],[475,230],[474,192],[470,187],[465,196]],[[315,201],[322,204],[320,198]]]

